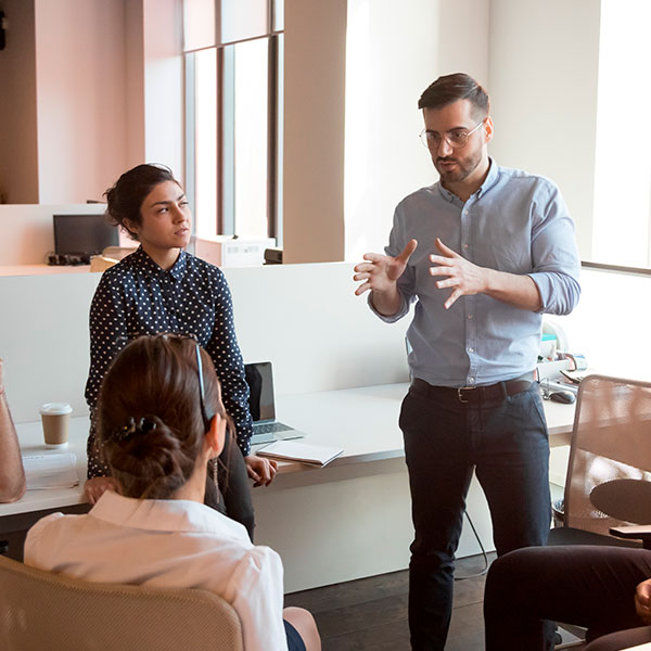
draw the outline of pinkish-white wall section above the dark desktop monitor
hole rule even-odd
[[[126,165],[125,0],[35,0],[39,203],[101,199]]]

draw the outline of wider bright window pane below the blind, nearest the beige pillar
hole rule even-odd
[[[267,237],[268,44],[265,38],[234,46],[235,232],[263,238]]]

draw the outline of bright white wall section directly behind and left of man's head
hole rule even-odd
[[[418,138],[418,99],[439,75],[487,82],[488,9],[488,0],[348,0],[345,259],[382,251],[396,204],[437,180]]]

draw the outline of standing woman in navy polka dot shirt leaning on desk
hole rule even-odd
[[[224,404],[235,423],[237,443],[248,476],[255,486],[269,484],[276,474],[276,463],[251,454],[248,386],[235,337],[230,290],[217,267],[183,251],[190,242],[192,215],[182,188],[168,168],[138,165],[120,176],[106,191],[106,199],[110,217],[139,241],[140,246],[104,271],[90,307],[86,400],[91,423],[102,378],[127,341],[161,332],[194,336],[217,370]],[[222,458],[227,452],[222,452]],[[238,457],[232,455],[235,463],[231,462],[233,468],[230,469],[231,494],[235,489],[243,493],[242,486],[234,485]],[[244,475],[243,470],[241,474]],[[114,487],[91,424],[86,496],[94,503],[106,488]],[[235,510],[251,510],[251,523],[243,523],[251,533],[253,509],[247,486],[245,494],[237,499],[246,503],[235,505]],[[228,499],[226,503],[229,509]],[[239,519],[237,514],[229,514]]]

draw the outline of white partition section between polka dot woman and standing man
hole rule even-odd
[[[277,393],[406,382],[408,319],[387,326],[355,296],[353,265],[224,270],[245,361],[273,362]]]

